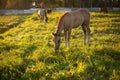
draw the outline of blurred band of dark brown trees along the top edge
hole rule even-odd
[[[0,9],[27,9],[36,7],[120,7],[120,0],[0,0]]]

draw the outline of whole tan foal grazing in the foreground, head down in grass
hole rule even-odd
[[[86,44],[86,35],[88,34],[88,43],[90,42],[90,13],[86,9],[78,9],[71,12],[64,13],[58,20],[57,29],[55,33],[52,33],[54,39],[54,49],[58,50],[60,46],[60,35],[64,30],[66,47],[70,46],[70,35],[72,28],[82,26],[84,32],[84,45]]]

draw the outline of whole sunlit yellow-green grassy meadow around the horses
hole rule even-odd
[[[62,33],[54,52],[51,33],[62,13],[49,14],[48,23],[37,13],[0,16],[1,80],[120,80],[120,12],[91,12],[90,45],[83,45],[79,27],[70,48]]]

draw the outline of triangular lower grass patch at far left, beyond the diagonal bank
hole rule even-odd
[[[19,25],[28,15],[0,16],[0,34]]]

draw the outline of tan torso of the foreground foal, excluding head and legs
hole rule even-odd
[[[89,21],[90,21],[89,11],[87,9],[81,8],[78,10],[64,13],[60,17],[58,25],[63,24],[66,28],[70,26],[71,28],[76,28],[82,24],[89,25]]]

